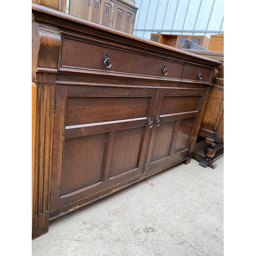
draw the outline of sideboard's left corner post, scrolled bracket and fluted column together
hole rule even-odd
[[[37,87],[35,146],[32,153],[32,238],[48,232],[49,226],[55,73],[60,45],[58,28],[32,24],[32,80],[34,79]]]

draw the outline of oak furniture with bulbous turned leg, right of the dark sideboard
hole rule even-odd
[[[220,147],[218,151],[216,149],[216,143],[224,145],[224,53],[188,49],[184,49],[184,51],[222,62],[218,68],[219,74],[214,84],[210,86],[210,94],[198,133],[198,141],[204,138],[209,145],[205,147],[205,156],[193,153],[193,158],[201,166],[216,168],[215,160],[224,155],[224,146]]]

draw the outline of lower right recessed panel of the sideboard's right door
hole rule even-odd
[[[194,122],[195,118],[181,120],[174,146],[174,154],[188,148],[188,142],[194,128]]]

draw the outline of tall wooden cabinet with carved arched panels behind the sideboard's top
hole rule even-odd
[[[122,0],[70,0],[68,4],[67,0],[32,0],[32,3],[130,34],[133,34],[138,10],[133,1],[129,4]]]

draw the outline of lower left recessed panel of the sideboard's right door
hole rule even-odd
[[[161,123],[157,127],[156,137],[154,140],[151,162],[168,156],[170,142],[172,141],[174,132],[174,122]]]

